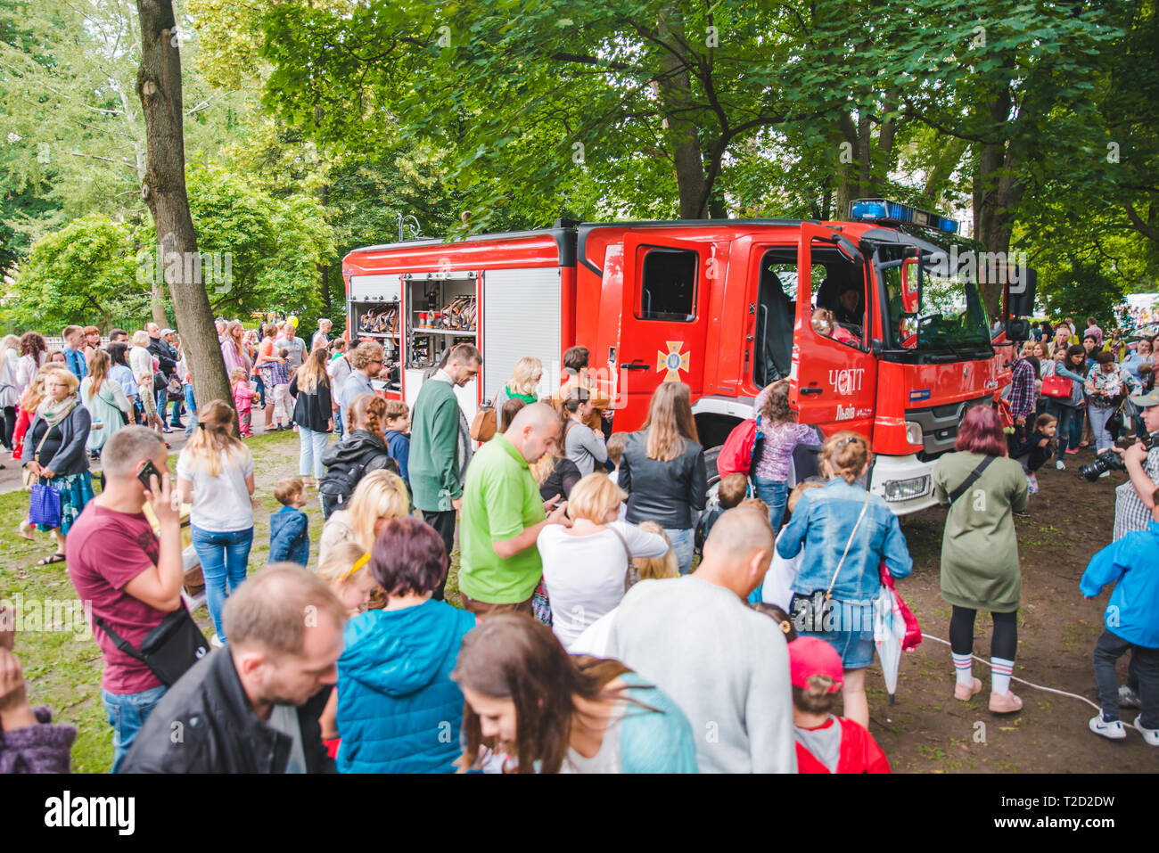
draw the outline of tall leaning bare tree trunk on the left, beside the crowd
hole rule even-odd
[[[233,394],[218,347],[209,294],[201,276],[192,275],[194,264],[182,261],[192,257],[185,253],[197,251],[197,234],[185,194],[181,52],[176,46],[173,2],[137,0],[137,13],[141,24],[137,94],[141,100],[148,141],[148,167],[141,195],[156,226],[165,278],[173,294],[194,396],[198,406],[210,400],[225,400],[232,407]],[[187,276],[187,271],[190,275]]]

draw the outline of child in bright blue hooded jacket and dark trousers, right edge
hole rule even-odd
[[[1128,533],[1091,559],[1079,582],[1087,598],[1115,584],[1105,614],[1106,630],[1094,647],[1094,679],[1102,713],[1091,719],[1091,731],[1121,741],[1120,699],[1138,691],[1140,712],[1135,728],[1151,746],[1159,746],[1159,489],[1147,528]],[[1127,691],[1118,686],[1115,662],[1131,652]],[[1138,680],[1138,685],[1130,684]]]

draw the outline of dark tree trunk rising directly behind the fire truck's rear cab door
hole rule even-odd
[[[691,119],[694,101],[687,65],[678,56],[683,50],[679,39],[672,38],[672,34],[681,29],[681,22],[678,12],[671,14],[676,17],[675,22],[670,22],[666,14],[659,16],[657,35],[671,50],[663,53],[659,80],[653,88],[664,114],[663,126],[676,167],[680,219],[701,219],[708,207],[705,159],[697,125]]]

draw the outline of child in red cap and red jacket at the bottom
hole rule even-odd
[[[860,724],[833,716],[841,656],[815,636],[789,643],[797,773],[889,773],[889,761]]]

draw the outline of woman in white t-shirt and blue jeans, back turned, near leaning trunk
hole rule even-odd
[[[254,457],[234,435],[233,407],[211,400],[197,413],[192,438],[177,457],[177,490],[189,513],[194,549],[205,576],[205,604],[217,633],[226,642],[221,611],[225,599],[246,579],[254,544]]]

